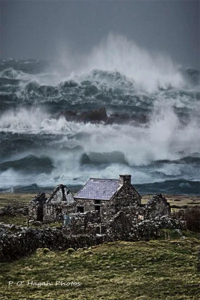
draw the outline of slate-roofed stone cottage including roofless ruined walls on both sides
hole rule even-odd
[[[131,175],[119,179],[90,178],[73,196],[63,184],[58,184],[51,195],[35,196],[29,203],[29,218],[47,222],[63,221],[64,215],[87,227],[88,223],[108,223],[118,212],[134,222],[170,215],[170,205],[161,194],[153,196],[146,205],[131,184]]]

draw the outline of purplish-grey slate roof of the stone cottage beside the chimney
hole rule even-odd
[[[90,178],[74,198],[109,200],[119,187],[119,180]]]

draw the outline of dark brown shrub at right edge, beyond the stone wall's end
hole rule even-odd
[[[187,207],[171,214],[172,218],[182,219],[186,222],[188,230],[199,232],[200,228],[200,207]]]

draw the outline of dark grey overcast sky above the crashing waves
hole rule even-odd
[[[87,53],[110,32],[199,68],[199,1],[1,0],[1,58]]]

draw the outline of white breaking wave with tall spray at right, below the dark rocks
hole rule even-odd
[[[86,153],[121,151],[130,166],[147,165],[159,159],[178,159],[177,152],[182,150],[185,153],[199,152],[197,119],[193,118],[183,126],[172,107],[159,101],[154,103],[147,128],[68,122],[64,118],[49,118],[37,108],[4,113],[0,129],[5,132],[59,134],[61,141],[55,143],[65,147],[79,144]]]

